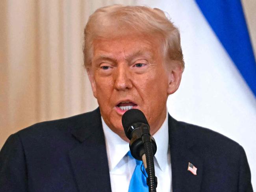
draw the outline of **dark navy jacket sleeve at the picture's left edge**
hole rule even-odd
[[[27,178],[24,149],[16,133],[0,151],[0,192],[27,192]]]

